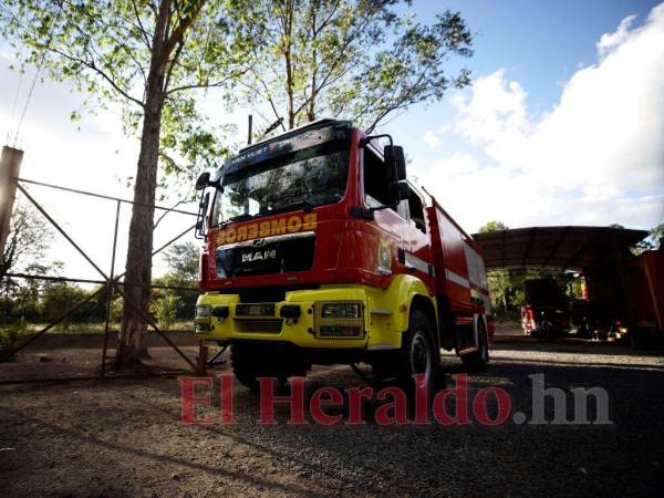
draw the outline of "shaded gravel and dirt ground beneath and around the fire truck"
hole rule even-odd
[[[86,355],[96,357],[97,352],[71,351],[66,367]],[[11,364],[12,372],[34,361],[24,355]],[[454,356],[445,355],[444,363],[452,386],[460,370]],[[58,362],[48,365],[61,367]],[[3,365],[0,375],[8,372]],[[178,422],[176,377],[2,385],[2,495],[661,492],[662,356],[605,343],[497,343],[489,371],[469,377],[470,397],[483,387],[499,386],[510,394],[512,413],[529,414],[528,375],[533,373],[544,374],[547,387],[605,388],[613,424],[535,426],[510,418],[496,427],[477,422],[293,426],[286,423],[288,411],[278,409],[278,424],[261,426],[258,398],[238,387],[234,425],[193,426]],[[341,366],[315,369],[308,385],[362,386],[350,369]],[[571,406],[571,395],[568,401]]]

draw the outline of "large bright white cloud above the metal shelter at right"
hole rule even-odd
[[[453,101],[455,128],[480,159],[453,156],[419,168],[453,216],[469,229],[489,219],[512,227],[660,222],[664,4],[642,28],[630,30],[633,21],[601,38],[599,62],[577,71],[544,115],[529,115],[526,91],[504,70]]]

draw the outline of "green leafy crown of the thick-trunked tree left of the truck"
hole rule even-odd
[[[220,131],[196,105],[197,91],[227,89],[246,71],[243,41],[229,32],[224,4],[6,0],[0,32],[24,54],[22,62],[43,64],[51,79],[73,82],[85,92],[91,110],[120,104],[132,136],[145,128],[148,101],[155,98],[159,115],[152,117],[160,120],[151,125],[160,128],[162,180],[175,174],[190,181],[197,174],[191,165],[227,152]]]

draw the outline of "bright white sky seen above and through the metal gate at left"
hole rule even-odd
[[[8,65],[8,62],[0,61],[0,95],[7,95],[7,98],[0,98],[0,133],[3,139],[9,134],[8,142],[12,144],[34,73],[29,69],[23,76],[12,114],[11,107],[20,75],[10,71]],[[122,122],[115,107],[112,111],[102,110],[94,115],[83,113],[79,132],[76,126],[70,123],[69,116],[74,110],[84,110],[83,101],[84,95],[72,92],[71,86],[66,84],[42,84],[38,81],[17,143],[17,147],[24,151],[20,175],[31,180],[131,199],[132,189],[126,188],[124,181],[121,183],[117,178],[124,179],[134,175],[138,142],[127,138],[122,133]],[[108,271],[115,203],[31,184],[24,186],[83,250],[104,271]],[[18,198],[28,203],[21,194]],[[174,201],[163,204],[172,206]],[[181,208],[195,210],[191,205]],[[116,271],[124,268],[129,216],[131,207],[123,204]],[[169,214],[155,231],[155,247],[159,247],[191,224],[193,220],[188,216]],[[191,239],[189,235],[185,237],[185,240]],[[68,277],[100,278],[60,234],[55,234],[51,249],[44,257],[44,261],[48,260],[63,261],[63,274]],[[165,268],[158,258],[155,258],[155,264],[157,273]]]

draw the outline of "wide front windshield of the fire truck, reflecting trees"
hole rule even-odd
[[[212,222],[240,221],[342,199],[349,177],[347,142],[268,159],[224,177]]]

